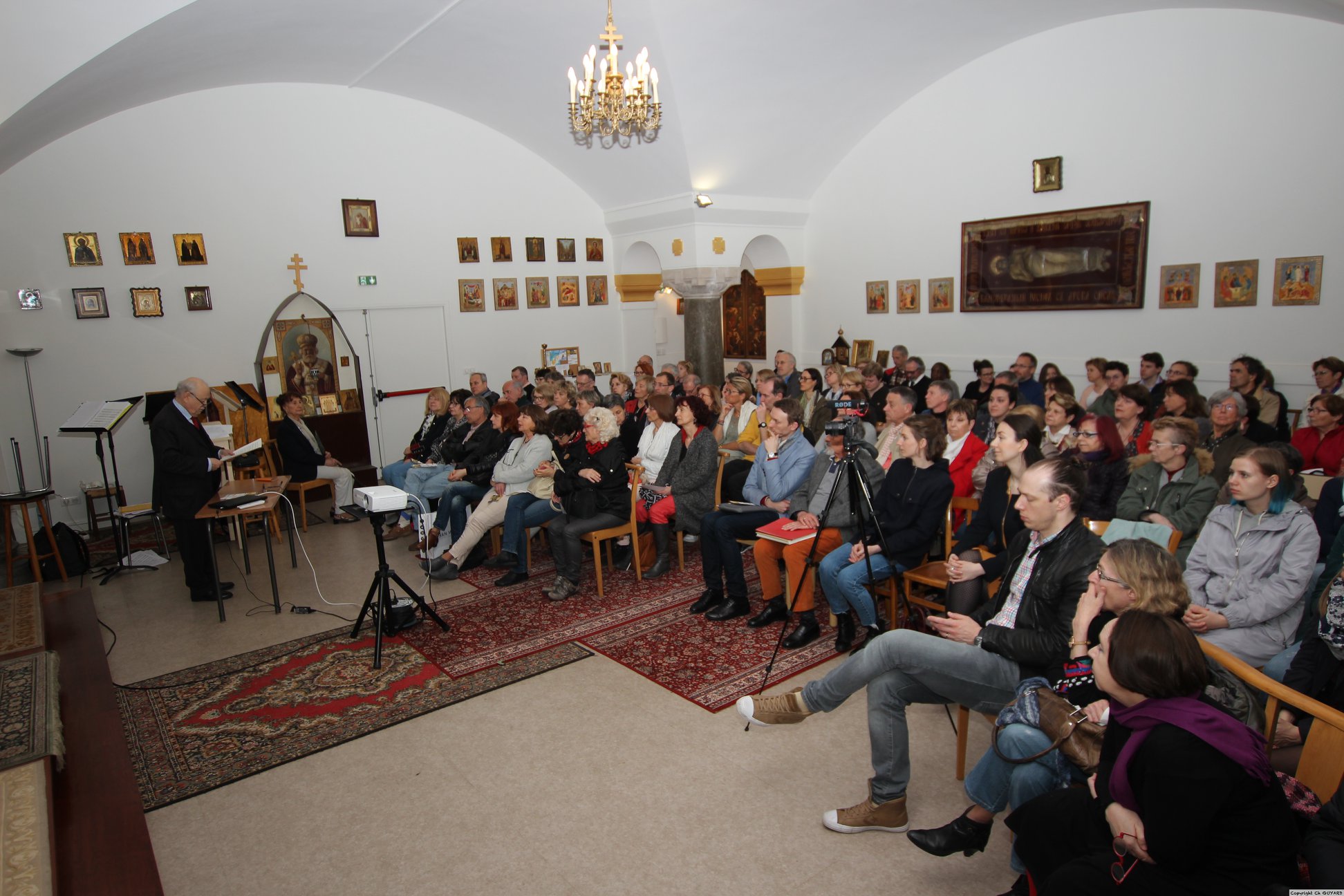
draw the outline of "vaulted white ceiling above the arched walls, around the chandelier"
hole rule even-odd
[[[806,199],[878,121],[969,60],[1172,7],[1344,23],[1344,0],[614,0],[622,54],[648,47],[659,69],[664,118],[653,142],[602,146],[573,138],[564,106],[601,0],[0,0],[0,172],[138,105],[305,82],[473,118],[607,210],[692,189]],[[1102,64],[1161,64],[1141,47],[1097,50]]]

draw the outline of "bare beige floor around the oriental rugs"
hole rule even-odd
[[[363,600],[376,568],[371,527],[310,527],[304,543],[329,600]],[[246,582],[269,600],[265,556],[253,544],[258,564]],[[418,586],[405,545],[388,545],[390,563]],[[288,552],[277,555],[282,599],[323,606],[302,555],[298,570]],[[220,557],[224,578],[238,582],[223,625],[214,604],[187,599],[176,563],[93,587],[117,631],[114,681],[341,625],[246,615],[262,604]],[[233,559],[241,564],[237,547]],[[914,708],[910,727],[911,821],[941,825],[965,806],[952,727],[941,707]],[[988,727],[973,720],[972,760],[986,743]],[[172,895],[1007,889],[1015,875],[1001,826],[973,858],[934,858],[900,834],[824,829],[821,813],[857,802],[870,774],[862,696],[801,725],[743,732],[731,709],[711,715],[594,656],[160,809],[148,822]]]

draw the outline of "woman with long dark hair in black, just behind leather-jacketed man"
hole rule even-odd
[[[1003,575],[1008,545],[1024,525],[1019,484],[1034,463],[1044,459],[1040,427],[1025,414],[1009,414],[989,442],[989,453],[999,466],[989,472],[980,510],[957,535],[948,557],[949,613],[972,613],[984,604],[989,595],[986,584]],[[1078,478],[1082,482],[1081,474]],[[1079,498],[1081,489],[1075,500]]]

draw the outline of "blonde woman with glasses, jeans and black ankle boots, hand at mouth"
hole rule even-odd
[[[1089,654],[1098,643],[1102,627],[1128,610],[1179,618],[1188,606],[1189,591],[1181,580],[1180,564],[1169,553],[1141,539],[1116,541],[1087,576],[1087,591],[1078,599],[1068,657],[1062,658],[1059,674],[1052,682],[1055,693],[1086,712],[1091,721],[1102,723],[1107,701],[1097,688]],[[1081,783],[1085,779],[1082,770],[1059,751],[1050,750],[1051,743],[1052,739],[1038,727],[1024,723],[1005,725],[997,735],[997,752],[993,747],[986,750],[966,775],[970,807],[942,827],[911,830],[910,842],[934,856],[977,853],[989,841],[995,815],[1008,806],[1025,806],[1056,787]],[[1036,754],[1042,755],[1034,762],[1009,762]],[[1025,870],[1016,853],[1012,853],[1012,866],[1017,872]]]

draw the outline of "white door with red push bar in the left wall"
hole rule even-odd
[[[363,326],[351,320],[355,314],[360,314]],[[411,433],[425,419],[425,392],[448,386],[444,308],[366,308],[337,316],[351,339],[364,333],[368,445],[374,463],[382,469],[402,459]]]

